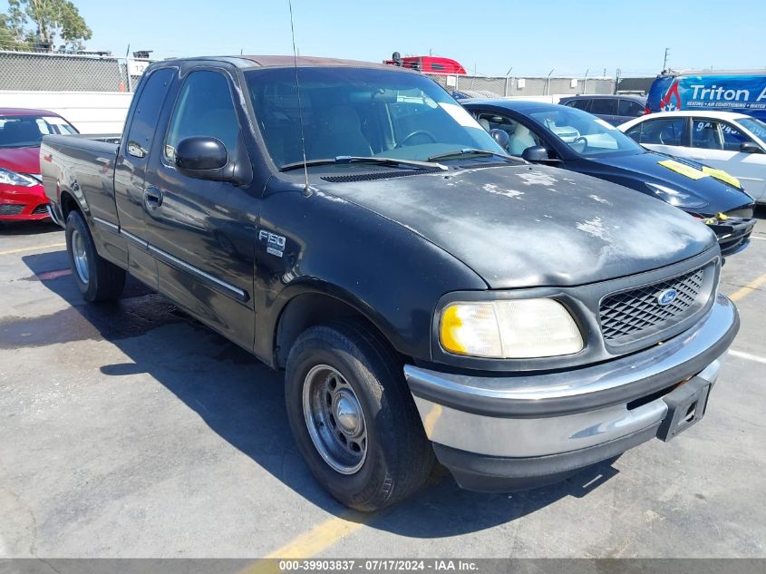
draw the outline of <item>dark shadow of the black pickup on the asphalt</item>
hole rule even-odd
[[[426,488],[399,506],[373,517],[349,514],[317,485],[296,450],[284,415],[282,373],[131,278],[117,304],[88,305],[64,271],[68,264],[63,250],[23,260],[34,274],[30,280],[40,280],[70,306],[53,315],[20,319],[18,325],[6,323],[0,328],[0,348],[109,341],[131,362],[102,365],[103,376],[151,375],[260,467],[347,520],[364,520],[371,528],[413,538],[454,536],[519,519],[566,497],[586,496],[618,472],[611,466],[613,459],[535,491],[482,494],[461,490],[439,467]]]

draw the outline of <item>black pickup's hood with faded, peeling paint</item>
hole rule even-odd
[[[491,288],[623,277],[693,257],[716,242],[681,209],[545,166],[354,179],[317,187],[420,234]]]

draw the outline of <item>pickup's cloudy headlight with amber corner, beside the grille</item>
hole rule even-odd
[[[553,299],[452,303],[441,312],[441,346],[456,355],[520,359],[583,348],[574,319]]]

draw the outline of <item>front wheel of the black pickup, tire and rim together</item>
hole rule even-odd
[[[298,449],[316,480],[358,511],[402,501],[433,466],[400,366],[385,342],[354,322],[307,329],[287,359],[287,417]]]

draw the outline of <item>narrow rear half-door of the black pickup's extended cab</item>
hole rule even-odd
[[[154,288],[157,288],[157,266],[147,245],[144,178],[162,103],[176,72],[175,68],[160,68],[141,81],[125,123],[114,169],[114,201],[120,235],[125,238],[128,250],[129,270]]]

